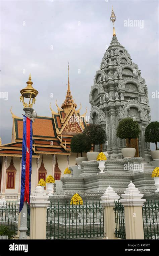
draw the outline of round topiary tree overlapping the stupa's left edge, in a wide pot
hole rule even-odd
[[[95,150],[95,145],[103,144],[107,139],[105,130],[99,125],[90,124],[86,126],[84,134],[93,144],[93,151]]]

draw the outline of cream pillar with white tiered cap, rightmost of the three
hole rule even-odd
[[[125,212],[126,239],[144,239],[142,206],[146,199],[142,199],[143,196],[132,181],[121,195],[123,199],[120,202]]]

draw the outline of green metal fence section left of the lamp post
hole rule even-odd
[[[8,226],[10,229],[18,230],[19,208],[15,203],[6,203],[0,205],[0,225]]]

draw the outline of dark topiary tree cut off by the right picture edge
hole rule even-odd
[[[152,142],[156,145],[159,142],[159,122],[151,122],[145,129],[145,142]]]

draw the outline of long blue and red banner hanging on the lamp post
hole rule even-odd
[[[23,116],[21,191],[20,191],[19,213],[21,212],[23,204],[26,200],[30,204],[32,145],[33,145],[32,121],[30,120],[30,118]]]

